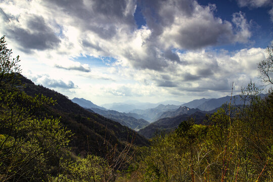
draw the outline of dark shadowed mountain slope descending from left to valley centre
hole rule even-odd
[[[126,142],[131,140],[133,140],[134,145],[147,146],[149,144],[143,136],[134,130],[99,114],[87,111],[54,90],[35,85],[23,76],[21,82],[25,84],[22,89],[27,95],[42,94],[57,101],[57,104],[47,107],[36,115],[39,118],[48,116],[60,118],[60,123],[74,133],[69,145],[76,155],[86,155],[89,152],[104,156],[107,148],[109,150],[117,145],[117,150],[122,151]]]

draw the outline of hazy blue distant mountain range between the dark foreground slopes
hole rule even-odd
[[[264,95],[261,95],[261,97],[264,97]],[[181,105],[157,104],[156,107],[148,109],[143,109],[142,106],[151,107],[156,104],[130,101],[127,103],[114,103],[112,105],[112,107],[119,108],[119,110],[122,110],[122,107],[127,107],[126,110],[128,112],[125,113],[115,110],[107,110],[104,107],[97,106],[83,98],[74,98],[72,101],[77,102],[84,108],[88,108],[90,112],[98,113],[106,118],[117,121],[124,126],[138,130],[139,133],[143,134],[146,138],[151,138],[156,131],[173,130],[181,121],[189,119],[190,117],[195,117],[197,120],[196,122],[201,122],[202,118],[204,118],[206,114],[217,111],[217,109],[223,104],[229,104],[230,102],[232,105],[236,106],[244,104],[244,101],[240,96],[236,95],[232,98],[231,96],[225,96],[217,99],[196,99]],[[131,104],[132,102],[134,102],[134,104]],[[175,103],[173,101],[171,102]],[[170,102],[167,101],[165,103]],[[129,109],[136,107],[138,107],[138,109],[129,111]]]

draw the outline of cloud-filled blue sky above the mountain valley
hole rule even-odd
[[[97,105],[189,102],[259,81],[272,0],[0,0],[22,74]]]

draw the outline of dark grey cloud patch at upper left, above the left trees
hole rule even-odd
[[[28,29],[16,26],[7,29],[7,36],[17,41],[24,52],[54,49],[61,42],[42,17],[32,15],[27,20],[27,26]]]

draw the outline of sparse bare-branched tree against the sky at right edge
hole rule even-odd
[[[258,64],[258,70],[261,73],[260,78],[264,83],[273,84],[273,45],[270,47],[268,46],[265,52],[267,54],[267,58]]]

